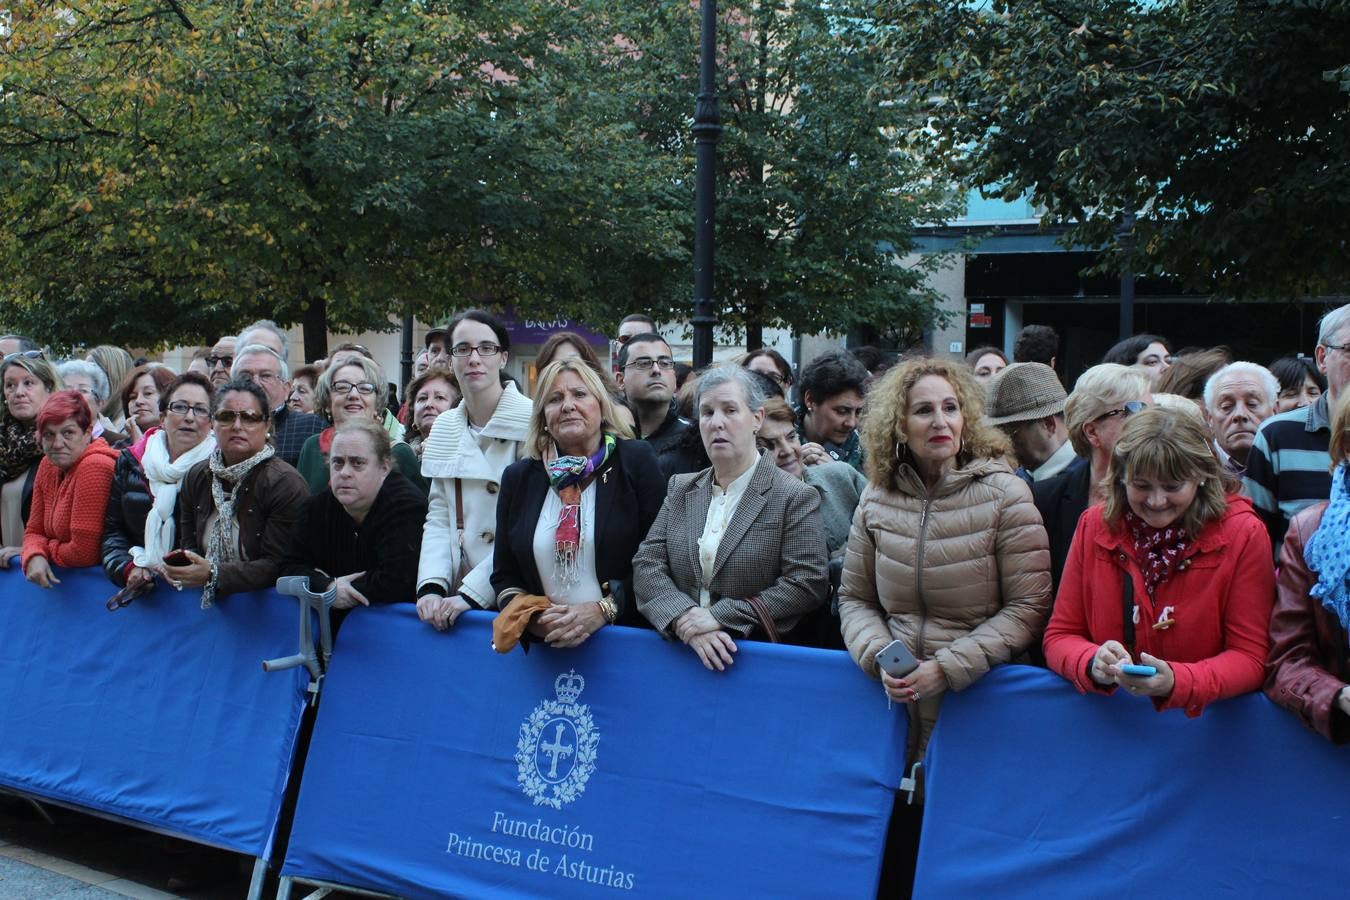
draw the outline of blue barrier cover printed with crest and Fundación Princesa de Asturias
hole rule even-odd
[[[343,625],[284,874],[404,896],[872,896],[905,715],[844,653],[651,631],[500,656]]]

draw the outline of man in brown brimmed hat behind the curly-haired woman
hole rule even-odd
[[[1044,363],[1013,363],[984,389],[986,420],[998,425],[1017,453],[1018,475],[1044,482],[1075,460],[1069,429],[1064,424],[1068,397],[1054,370]]]

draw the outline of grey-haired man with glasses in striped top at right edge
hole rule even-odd
[[[1289,519],[1331,497],[1331,413],[1350,383],[1350,304],[1322,317],[1314,360],[1327,376],[1326,393],[1311,406],[1261,422],[1242,476],[1242,493],[1265,519],[1276,557]]]

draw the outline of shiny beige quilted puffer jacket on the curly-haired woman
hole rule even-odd
[[[932,493],[909,466],[900,490],[868,484],[840,584],[849,653],[879,679],[878,652],[905,641],[937,660],[953,691],[1041,640],[1050,609],[1050,551],[1031,488],[1006,463],[979,459]],[[922,758],[942,698],[910,719],[910,761]]]

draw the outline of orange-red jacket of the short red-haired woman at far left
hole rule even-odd
[[[101,437],[90,441],[69,471],[46,457],[32,482],[32,510],[23,533],[23,569],[45,556],[53,565],[97,565],[103,542],[103,511],[108,505],[117,451]]]

